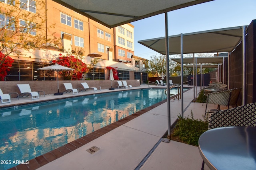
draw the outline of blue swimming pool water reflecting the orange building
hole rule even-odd
[[[16,166],[14,160],[26,162],[165,99],[164,89],[138,89],[1,109],[0,160],[11,164],[0,164],[0,169]]]

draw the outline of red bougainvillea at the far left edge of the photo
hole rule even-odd
[[[9,56],[5,56],[2,52],[0,52],[0,80],[4,81],[5,76],[7,75],[7,71],[10,71],[8,67],[12,66],[13,59]]]

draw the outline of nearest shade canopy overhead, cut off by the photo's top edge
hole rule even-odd
[[[125,23],[212,0],[53,0],[106,27]]]

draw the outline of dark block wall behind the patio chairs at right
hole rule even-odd
[[[256,102],[256,20],[247,28],[246,36],[246,104]],[[230,88],[242,87],[242,43],[230,55]],[[238,99],[242,105],[242,91]]]

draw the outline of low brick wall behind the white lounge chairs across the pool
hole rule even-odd
[[[137,80],[126,80],[127,84],[132,85],[133,87],[140,86],[140,82]],[[59,80],[59,90],[60,92],[64,92],[65,87],[63,83],[72,83],[73,88],[82,88],[81,82],[87,82],[89,87],[96,87],[98,89],[101,86],[101,89],[111,88],[110,80],[83,80],[83,81],[64,81]],[[58,84],[57,81],[0,81],[0,88],[3,93],[11,93],[17,92],[20,94],[20,90],[17,84],[29,84],[32,91],[43,90],[45,94],[54,94],[58,92]],[[114,88],[118,85],[117,80],[113,80],[112,87]],[[42,95],[42,93],[40,93]],[[15,94],[11,95],[12,97],[16,97]]]

